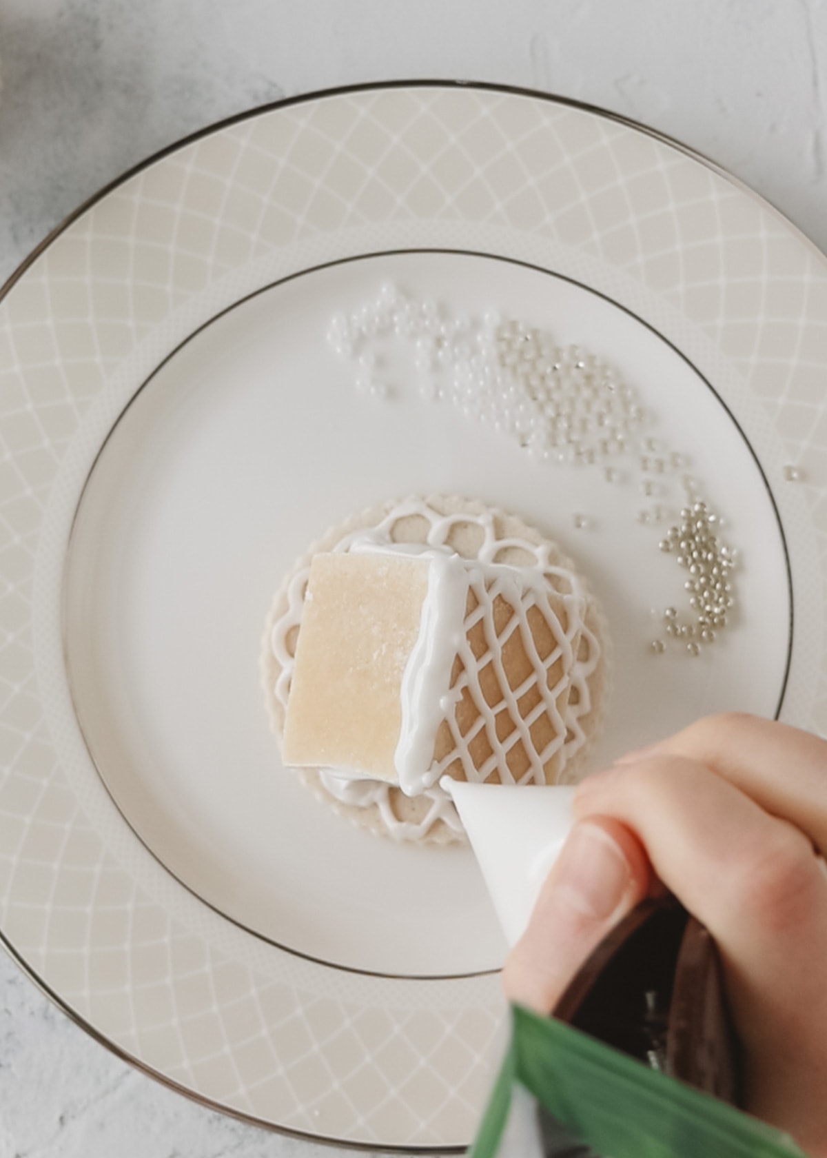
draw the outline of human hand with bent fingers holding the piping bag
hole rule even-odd
[[[827,1158],[827,741],[708,717],[588,777],[576,826],[504,969],[549,1012],[643,896],[715,938],[745,1053],[745,1108]]]

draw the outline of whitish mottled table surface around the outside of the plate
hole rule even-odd
[[[0,279],[102,185],[283,96],[533,87],[717,161],[827,250],[827,0],[0,0]],[[109,1054],[0,954],[0,1158],[313,1158]]]

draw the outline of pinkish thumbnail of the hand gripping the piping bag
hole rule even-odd
[[[555,899],[591,921],[606,921],[630,884],[629,862],[609,834],[598,824],[576,824],[555,868]]]

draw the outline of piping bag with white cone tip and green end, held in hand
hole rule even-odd
[[[510,945],[572,827],[574,789],[442,777]],[[782,1158],[738,1108],[740,1048],[717,948],[671,895],[594,950],[549,1018],[514,1005],[471,1158]]]

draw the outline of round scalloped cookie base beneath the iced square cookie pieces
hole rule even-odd
[[[542,560],[550,587],[559,595],[580,598],[585,610],[564,716],[562,767],[554,774],[556,783],[577,780],[583,756],[600,728],[609,692],[609,638],[602,611],[587,581],[555,542],[514,514],[455,496],[389,501],[352,515],[313,543],[285,578],[268,615],[261,650],[265,704],[279,743],[310,560],[320,552],[347,550],[359,533],[367,530],[379,532],[388,544],[433,545],[437,535],[440,545],[468,559],[484,554],[489,560],[512,566],[536,566]],[[376,835],[438,844],[464,840],[456,811],[438,784],[420,796],[408,797],[394,785],[347,782],[324,769],[295,771],[317,799]],[[456,775],[455,765],[449,771]]]

